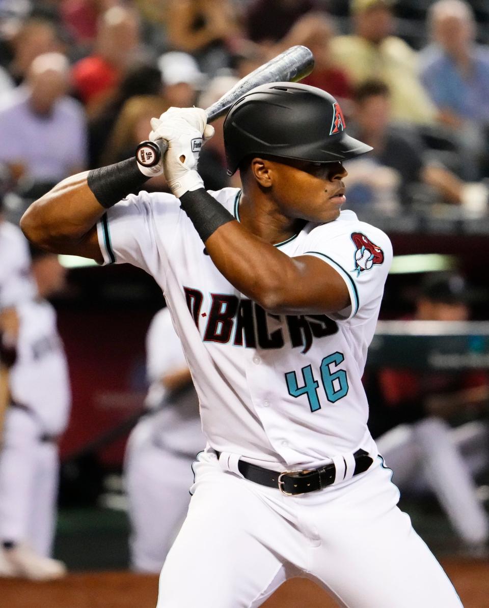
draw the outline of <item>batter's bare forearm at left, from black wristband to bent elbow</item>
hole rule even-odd
[[[85,171],[63,179],[27,209],[20,226],[31,243],[62,253],[63,246],[82,239],[104,215],[87,176]]]

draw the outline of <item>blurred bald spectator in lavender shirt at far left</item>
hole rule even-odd
[[[38,185],[46,192],[85,168],[85,117],[68,88],[68,60],[46,53],[32,62],[25,85],[0,98],[0,161],[23,179],[24,190]]]

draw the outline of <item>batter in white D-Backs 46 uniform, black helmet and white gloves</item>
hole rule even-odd
[[[44,247],[139,266],[166,295],[207,446],[158,608],[260,606],[297,575],[343,606],[461,606],[367,429],[361,376],[392,247],[341,207],[342,161],[371,148],[328,93],[259,86],[224,123],[242,188],[206,192],[205,112],[151,123],[169,142],[161,165],[138,156],[68,178],[21,226]],[[151,170],[173,196],[128,195]]]

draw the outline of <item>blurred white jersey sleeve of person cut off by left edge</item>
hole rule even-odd
[[[36,295],[27,240],[20,228],[0,221],[0,308],[31,300]]]

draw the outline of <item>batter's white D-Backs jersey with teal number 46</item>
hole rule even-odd
[[[240,190],[211,195],[239,220]],[[345,280],[351,306],[329,316],[273,315],[237,291],[172,195],[128,196],[98,234],[106,264],[134,264],[163,289],[211,447],[273,469],[375,452],[361,377],[392,260],[381,230],[344,211],[276,245],[320,258]]]

